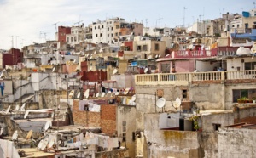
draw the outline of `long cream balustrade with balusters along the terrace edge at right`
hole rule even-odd
[[[190,73],[159,73],[136,75],[137,85],[177,84],[188,85],[189,82],[255,79],[256,70],[251,71],[207,71]]]

